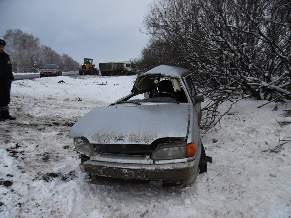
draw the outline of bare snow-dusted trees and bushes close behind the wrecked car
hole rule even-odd
[[[290,0],[159,0],[144,24],[151,41],[134,60],[139,70],[191,70],[210,99],[202,128],[219,123],[226,100],[291,100]]]

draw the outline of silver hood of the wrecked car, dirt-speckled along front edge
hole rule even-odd
[[[151,144],[159,138],[187,137],[188,105],[161,103],[96,107],[71,128],[69,137],[95,144]]]

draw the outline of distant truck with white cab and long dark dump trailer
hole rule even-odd
[[[133,75],[130,61],[99,63],[102,76]]]

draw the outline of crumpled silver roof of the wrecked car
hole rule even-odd
[[[160,66],[157,66],[157,67],[143,73],[142,75],[149,74],[149,73],[161,73],[165,76],[181,78],[184,73],[188,73],[188,72],[189,72],[189,70],[186,70],[186,69],[181,68],[181,67],[160,65]]]

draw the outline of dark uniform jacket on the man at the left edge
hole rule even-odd
[[[9,81],[13,80],[12,66],[10,57],[4,51],[0,53],[0,80]]]

